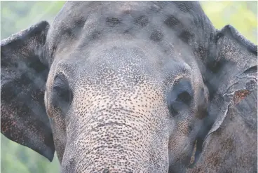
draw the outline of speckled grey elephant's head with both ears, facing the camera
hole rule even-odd
[[[257,134],[243,108],[257,104],[256,71],[257,46],[196,1],[67,1],[51,24],[1,41],[1,133],[56,152],[62,173],[194,172],[236,125]],[[238,140],[230,154],[255,158],[256,137],[224,145]]]

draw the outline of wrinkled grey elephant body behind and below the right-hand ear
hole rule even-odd
[[[251,90],[245,99],[231,102],[222,125],[205,139],[188,173],[257,172],[257,85]]]

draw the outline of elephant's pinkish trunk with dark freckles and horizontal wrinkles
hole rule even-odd
[[[168,137],[153,115],[116,108],[83,117],[70,131],[62,172],[168,172]]]

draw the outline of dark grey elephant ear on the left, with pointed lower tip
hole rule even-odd
[[[44,106],[48,65],[46,21],[1,41],[1,133],[53,160],[53,134]]]

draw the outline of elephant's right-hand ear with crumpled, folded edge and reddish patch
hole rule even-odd
[[[210,106],[208,125],[211,125],[205,139],[222,125],[231,107],[236,105],[236,98],[242,102],[257,104],[257,97],[245,97],[256,90],[257,86],[257,46],[245,39],[231,25],[226,25],[217,31],[216,50],[210,53],[205,76],[210,91]],[[238,110],[238,116],[245,116],[245,120],[256,119],[248,117],[253,106]],[[237,108],[238,109],[238,108]],[[250,110],[249,110],[250,109]],[[251,121],[250,121],[251,120]],[[256,122],[255,120],[253,122]],[[205,140],[204,140],[205,141]]]

